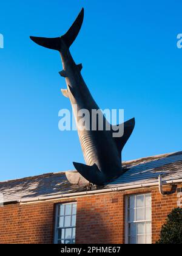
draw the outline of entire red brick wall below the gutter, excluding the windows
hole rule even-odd
[[[55,205],[72,201],[78,203],[76,243],[124,243],[125,196],[136,193],[152,193],[152,242],[155,243],[167,215],[177,207],[177,194],[161,196],[158,188],[5,205],[0,207],[0,243],[53,243]]]

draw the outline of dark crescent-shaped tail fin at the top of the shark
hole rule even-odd
[[[66,44],[67,48],[70,48],[73,41],[75,41],[77,35],[79,34],[79,30],[83,24],[84,19],[84,9],[81,10],[75,22],[72,24],[70,29],[66,32],[66,34],[62,35],[62,37],[56,38],[45,38],[45,37],[30,37],[32,41],[43,46],[45,48],[57,50],[61,52],[62,49],[62,40],[64,44]]]

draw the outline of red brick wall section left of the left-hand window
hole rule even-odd
[[[0,207],[0,243],[51,243],[53,204]]]

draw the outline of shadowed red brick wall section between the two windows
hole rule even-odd
[[[123,243],[123,193],[81,197],[77,211],[76,243]]]

